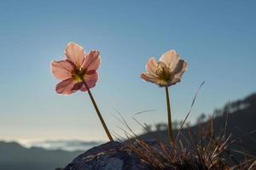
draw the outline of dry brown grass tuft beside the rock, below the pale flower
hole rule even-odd
[[[123,119],[123,122],[125,120]],[[139,122],[138,122],[139,123]],[[125,122],[126,127],[128,124]],[[150,133],[147,125],[142,125]],[[225,125],[225,127],[227,124]],[[199,128],[198,132],[189,130],[188,134],[180,133],[177,144],[166,144],[157,137],[154,142],[144,141],[128,126],[126,133],[130,150],[152,169],[166,170],[253,170],[256,169],[256,157],[245,150],[232,150],[232,144],[237,139],[231,139],[231,134],[214,134],[213,121]],[[236,156],[243,159],[238,161]]]

